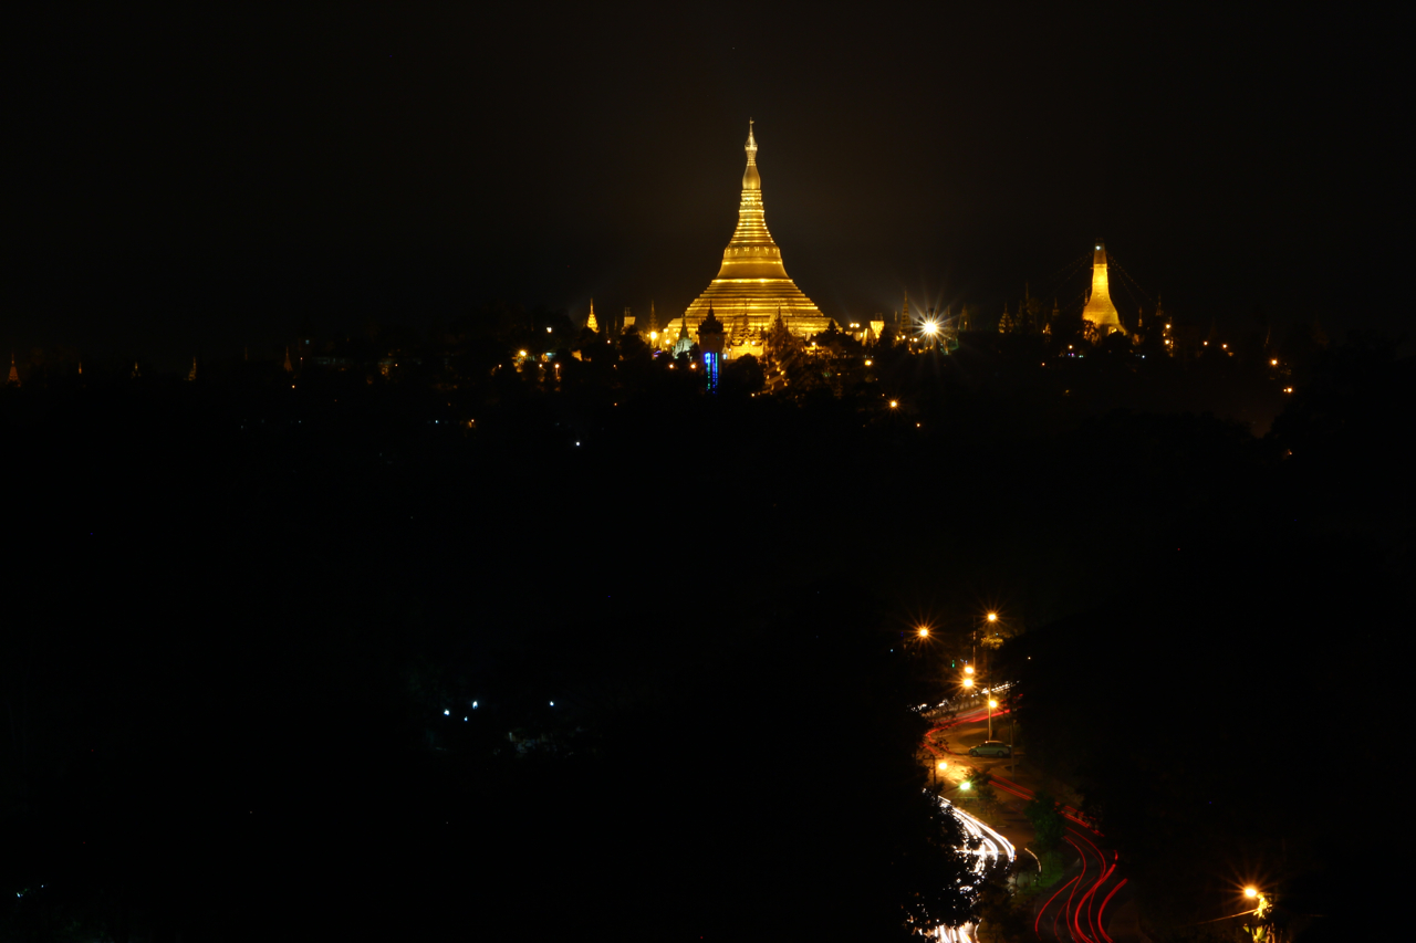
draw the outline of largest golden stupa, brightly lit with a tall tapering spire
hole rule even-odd
[[[830,319],[801,293],[782,265],[782,249],[772,241],[762,215],[762,177],[758,174],[758,142],[748,122],[748,170],[742,174],[742,204],[738,228],[722,252],[718,278],[684,312],[684,323],[697,328],[709,306],[735,333],[758,334],[782,314],[787,330],[797,336],[824,331]]]

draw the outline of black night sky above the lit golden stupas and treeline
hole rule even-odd
[[[1206,324],[1405,317],[1395,18],[208,6],[7,24],[0,341],[221,355],[307,316],[678,313],[732,232],[749,116],[767,225],[837,317],[903,289],[1066,302],[1096,236]]]

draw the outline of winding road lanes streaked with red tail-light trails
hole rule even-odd
[[[969,746],[987,736],[987,709],[970,711],[952,721],[937,724],[925,739],[926,748],[936,759],[947,756],[952,766],[987,770],[995,790],[1015,800],[1031,801],[1034,790],[1017,782],[1027,776],[1014,772],[1017,766],[1012,760],[967,756]],[[1003,732],[998,726],[1000,716],[1005,718],[1007,711],[994,711],[995,736]],[[947,736],[947,745],[943,743],[944,736],[940,735]],[[1072,862],[1059,885],[1035,898],[1034,935],[1049,943],[1124,943],[1130,939],[1138,939],[1133,936],[1130,927],[1123,932],[1114,926],[1116,910],[1127,896],[1123,892],[1127,879],[1120,874],[1116,851],[1109,847],[1106,837],[1096,828],[1095,823],[1087,821],[1079,810],[1062,806],[1062,814],[1068,823],[1063,842],[1076,855],[1076,861]]]

